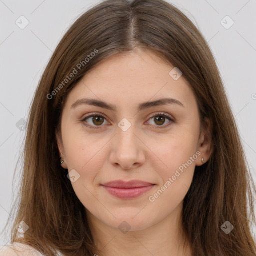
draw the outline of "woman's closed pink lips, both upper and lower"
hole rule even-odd
[[[128,182],[122,180],[114,180],[102,184],[102,186],[113,196],[122,199],[131,199],[138,197],[149,191],[155,184],[131,180]]]

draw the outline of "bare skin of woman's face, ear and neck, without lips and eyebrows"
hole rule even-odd
[[[151,51],[136,49],[100,62],[67,96],[61,131],[56,131],[59,153],[62,167],[80,175],[72,186],[86,208],[100,255],[191,255],[180,214],[195,166],[202,165],[201,157],[204,163],[210,157],[210,139],[204,126],[200,134],[198,105],[189,83],[183,76],[174,80],[169,75],[173,67]],[[85,97],[114,104],[116,111],[86,104],[71,108]],[[166,104],[137,110],[142,102],[164,97],[177,99],[184,107]],[[81,121],[94,112],[105,118]],[[175,122],[165,118],[159,124],[152,117],[159,112]],[[126,131],[118,126],[123,118],[131,124]],[[149,201],[197,151],[201,155]],[[117,179],[156,185],[134,199],[120,199],[100,186]],[[123,221],[130,227],[126,233],[118,228]]]

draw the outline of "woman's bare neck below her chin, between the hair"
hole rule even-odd
[[[191,256],[190,244],[180,228],[182,205],[160,222],[126,233],[106,225],[86,210],[93,240],[101,251],[99,256]]]

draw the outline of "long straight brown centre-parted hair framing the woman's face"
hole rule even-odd
[[[195,167],[183,204],[182,228],[193,255],[255,256],[250,230],[255,186],[218,68],[195,25],[163,0],[104,1],[82,14],[58,44],[29,112],[12,243],[52,256],[54,250],[100,254],[84,206],[59,164],[55,130],[75,84],[100,61],[136,47],[177,66],[196,95],[201,124],[204,117],[213,123],[211,157]],[[29,228],[17,237],[15,227],[22,220]],[[234,226],[229,234],[221,229],[225,221]]]

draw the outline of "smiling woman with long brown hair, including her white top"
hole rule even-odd
[[[2,253],[252,256],[249,180],[198,29],[162,0],[104,1],[40,80]]]

